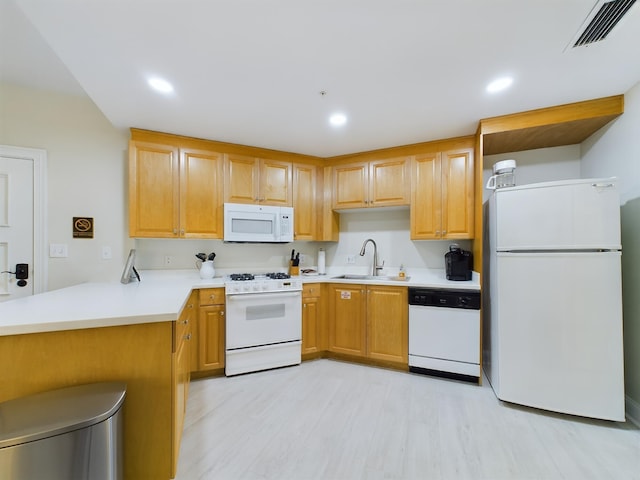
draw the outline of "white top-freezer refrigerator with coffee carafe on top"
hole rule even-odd
[[[615,179],[498,189],[484,214],[483,366],[496,396],[624,421]]]

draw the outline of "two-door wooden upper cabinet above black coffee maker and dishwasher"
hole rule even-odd
[[[420,154],[412,163],[411,239],[473,238],[473,149]]]

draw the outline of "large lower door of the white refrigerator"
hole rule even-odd
[[[498,398],[624,421],[620,259],[620,252],[498,254],[499,289],[491,291]]]

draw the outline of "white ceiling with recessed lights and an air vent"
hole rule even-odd
[[[333,156],[625,93],[640,81],[640,2],[606,40],[566,48],[595,4],[0,0],[0,80],[86,93],[118,128]],[[505,74],[511,89],[485,92]],[[152,92],[150,75],[175,92]]]

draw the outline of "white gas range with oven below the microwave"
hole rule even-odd
[[[225,294],[227,376],[300,363],[300,279],[285,273],[232,274]]]

